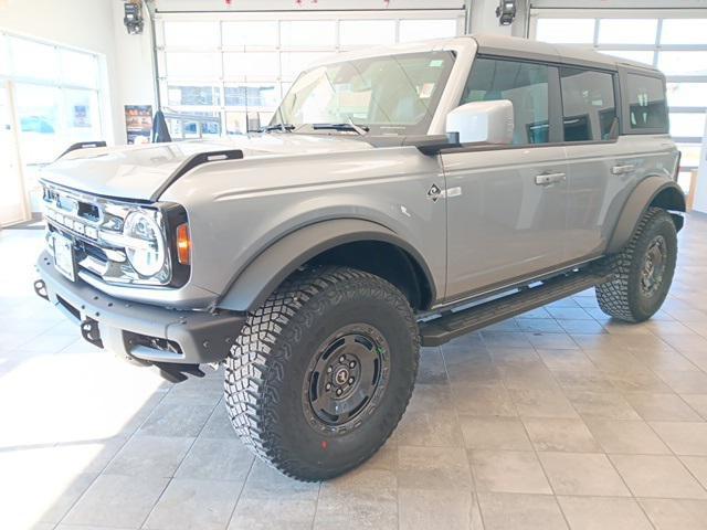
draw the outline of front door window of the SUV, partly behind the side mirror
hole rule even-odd
[[[547,144],[550,141],[548,77],[549,67],[544,64],[477,57],[462,105],[509,99],[515,117],[513,142]]]

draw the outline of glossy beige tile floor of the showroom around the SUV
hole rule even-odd
[[[31,293],[38,231],[0,233],[0,528],[707,528],[707,216],[664,310],[592,293],[422,352],[359,470],[299,484],[234,437],[220,373],[172,386]]]

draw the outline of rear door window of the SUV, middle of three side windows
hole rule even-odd
[[[618,126],[614,76],[562,66],[560,86],[564,141],[610,140]]]

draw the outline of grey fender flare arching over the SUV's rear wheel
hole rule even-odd
[[[621,210],[606,246],[608,254],[621,251],[629,243],[639,221],[651,205],[685,212],[685,194],[676,182],[666,180],[664,177],[647,177],[639,182]],[[675,227],[679,231],[683,227],[683,218],[673,215],[673,220]]]

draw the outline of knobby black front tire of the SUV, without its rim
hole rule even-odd
[[[389,344],[390,370],[377,406],[360,424],[330,433],[307,417],[303,384],[323,341],[363,324]],[[326,480],[370,458],[402,417],[418,371],[420,338],[405,296],[348,267],[317,267],[287,279],[256,311],[225,363],[225,403],[241,441],[283,474]]]

